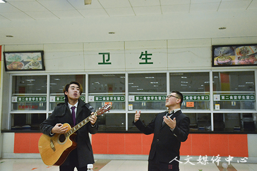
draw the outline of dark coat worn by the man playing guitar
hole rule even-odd
[[[85,106],[85,103],[79,99],[79,104],[78,104],[77,113],[76,113],[76,123],[78,124],[82,120],[86,119],[88,116],[90,116],[90,113],[91,111]],[[41,132],[43,132],[43,134],[51,136],[50,131],[57,123],[62,123],[62,124],[68,123],[71,127],[73,126],[71,112],[67,102],[61,105],[58,105],[56,108],[54,108],[52,114],[43,123],[40,124],[40,130]],[[91,126],[90,122],[88,122],[86,125],[84,125],[79,130],[76,131],[76,134],[77,134],[76,141],[78,143],[77,151],[78,151],[78,160],[79,160],[80,167],[86,167],[87,164],[95,163],[88,132],[90,134],[96,134],[97,130],[98,130],[97,122],[94,127]],[[70,164],[70,158],[68,156],[62,165],[69,165],[69,164]]]

